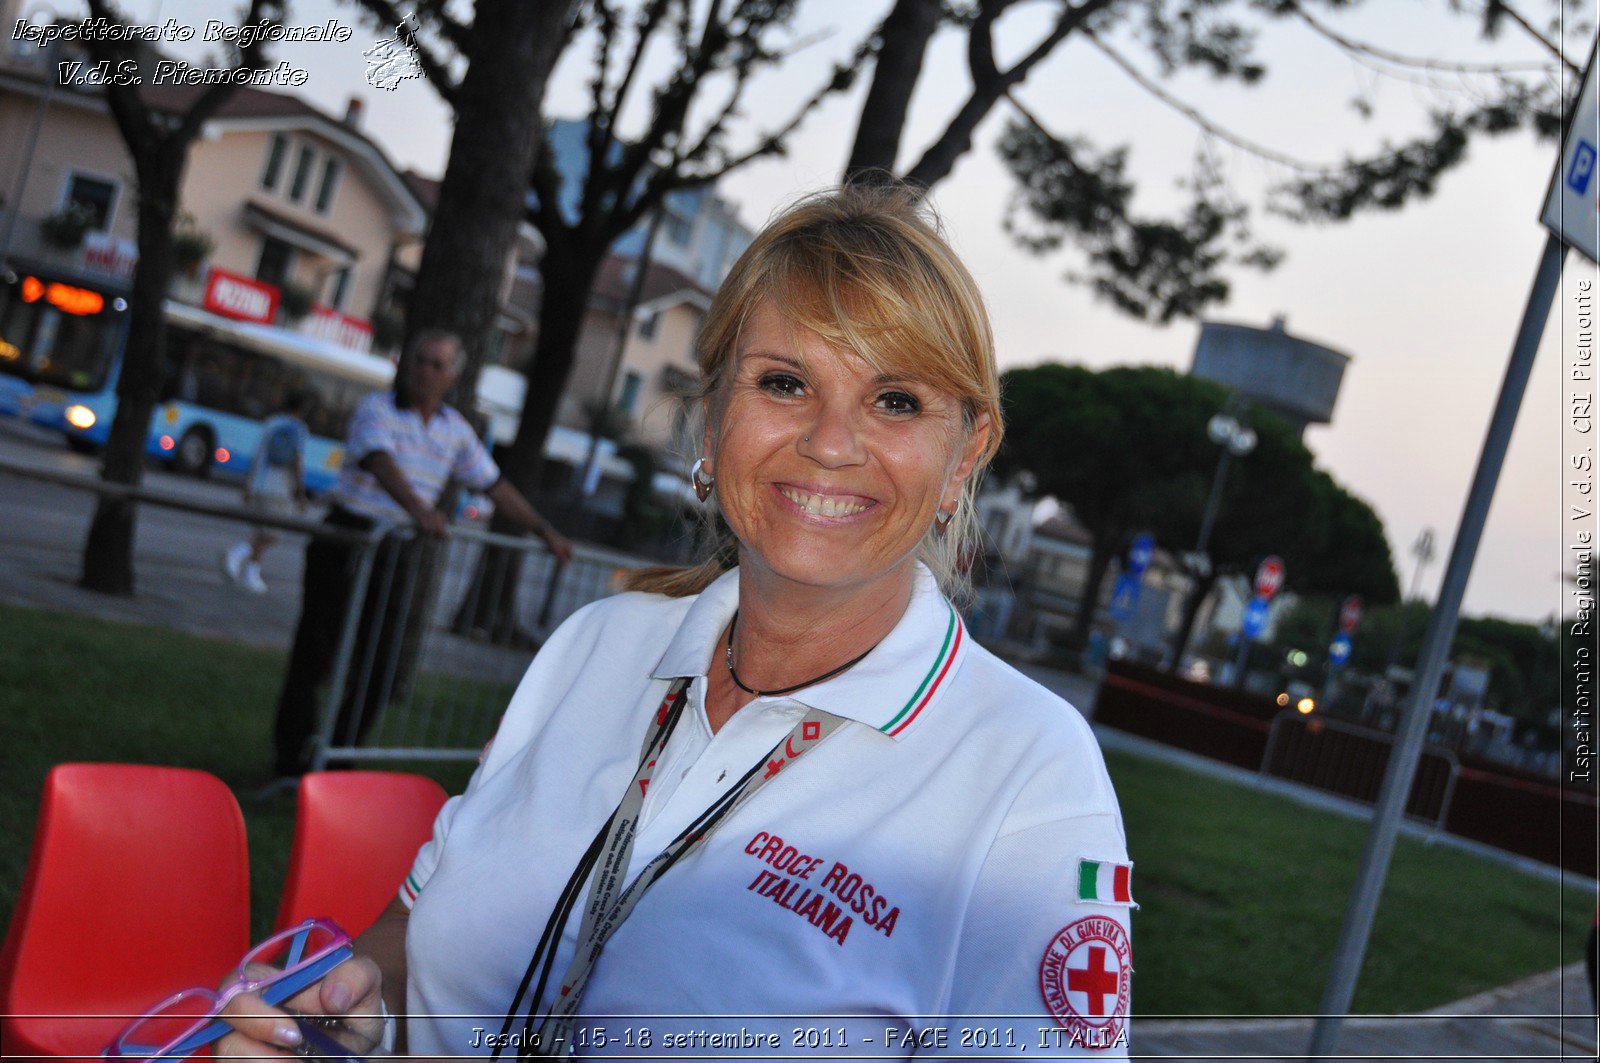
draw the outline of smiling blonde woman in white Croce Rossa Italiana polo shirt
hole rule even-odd
[[[1099,749],[941,589],[1000,440],[971,277],[909,194],[811,197],[699,355],[726,543],[550,636],[347,997],[430,1057],[1123,1055]]]

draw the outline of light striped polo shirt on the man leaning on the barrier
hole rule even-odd
[[[355,408],[344,443],[344,467],[328,499],[378,520],[406,520],[378,477],[362,469],[366,455],[387,451],[418,498],[432,506],[451,479],[483,491],[499,480],[499,467],[483,440],[454,407],[440,407],[427,423],[414,408],[395,407],[394,392],[368,395]]]

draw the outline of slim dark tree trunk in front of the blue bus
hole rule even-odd
[[[139,269],[133,275],[128,341],[117,378],[117,416],[110,423],[101,479],[138,487],[150,416],[166,373],[166,287],[173,275],[173,219],[187,150],[163,146],[136,160],[139,174]],[[83,544],[80,584],[102,594],[133,594],[133,533],[138,506],[101,496]]]

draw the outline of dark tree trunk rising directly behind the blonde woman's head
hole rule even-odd
[[[894,173],[906,114],[922,75],[928,42],[938,27],[939,0],[896,0],[883,19],[872,86],[861,106],[856,142],[845,163],[846,183],[874,181],[874,171]]]

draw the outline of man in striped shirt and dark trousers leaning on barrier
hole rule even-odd
[[[558,560],[570,560],[571,544],[501,477],[467,419],[445,403],[462,355],[454,335],[424,331],[411,343],[395,391],[368,395],[357,407],[325,523],[365,532],[379,523],[414,522],[422,536],[443,538],[450,519],[437,504],[445,485],[456,480],[486,491],[499,514],[541,536]],[[379,548],[350,685],[333,732],[336,743],[358,743],[389,698],[392,658],[410,605],[408,589],[390,584],[410,583],[418,543],[390,538]],[[334,540],[314,538],[306,548],[301,618],[274,727],[278,775],[299,775],[309,767],[317,687],[333,671],[358,559],[360,548]],[[387,607],[378,607],[379,600]]]

